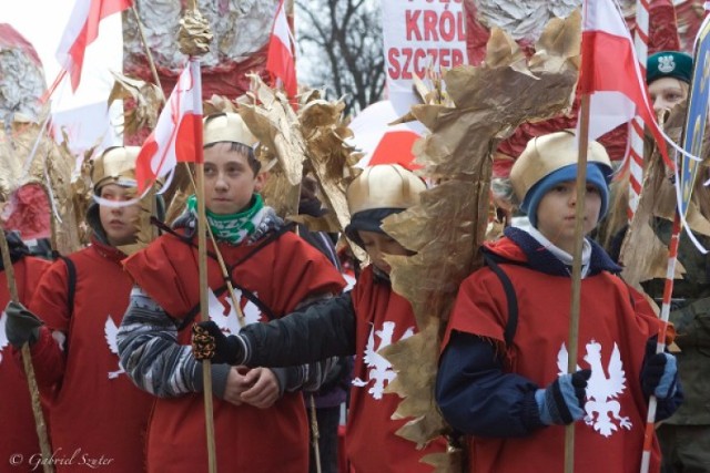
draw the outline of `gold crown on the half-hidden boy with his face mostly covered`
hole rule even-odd
[[[374,208],[409,208],[426,191],[424,182],[398,164],[365,168],[347,187],[351,215]]]

